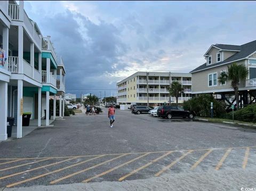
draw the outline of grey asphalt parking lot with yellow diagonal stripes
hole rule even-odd
[[[0,143],[0,188],[256,170],[256,130],[116,112],[57,120]],[[249,177],[250,180],[250,177]],[[252,180],[254,181],[254,180]]]

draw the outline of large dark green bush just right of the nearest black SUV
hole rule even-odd
[[[193,111],[197,116],[210,117],[211,102],[213,102],[213,115],[220,117],[225,112],[225,102],[218,101],[210,94],[201,94],[183,103],[185,110]]]

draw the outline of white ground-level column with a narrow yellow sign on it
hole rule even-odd
[[[17,101],[17,138],[22,137],[22,111],[21,99],[23,100],[23,80],[18,80],[18,101]],[[22,105],[23,107],[23,105]],[[23,110],[23,109],[22,109]]]

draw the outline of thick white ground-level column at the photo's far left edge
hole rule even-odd
[[[7,82],[0,82],[0,140],[7,139]]]

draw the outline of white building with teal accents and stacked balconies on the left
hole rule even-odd
[[[37,23],[24,10],[24,2],[0,2],[0,140],[7,139],[7,117],[14,118],[17,138],[22,137],[22,114],[31,112],[30,119],[41,118],[46,110],[49,125],[50,95],[60,97],[60,114],[64,111],[65,68],[57,58],[50,36],[43,37]]]

